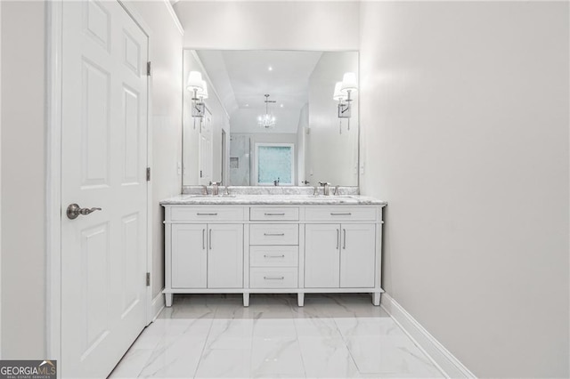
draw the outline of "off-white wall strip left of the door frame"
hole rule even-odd
[[[0,35],[2,358],[42,359],[45,358],[45,3],[3,1]]]

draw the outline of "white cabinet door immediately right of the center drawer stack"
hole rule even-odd
[[[305,225],[305,287],[338,288],[339,224]]]

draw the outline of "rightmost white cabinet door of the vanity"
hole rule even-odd
[[[368,288],[374,286],[376,264],[376,226],[342,224],[340,249],[340,286]]]

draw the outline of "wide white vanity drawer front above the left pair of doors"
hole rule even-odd
[[[173,222],[231,222],[244,220],[243,206],[173,206]]]

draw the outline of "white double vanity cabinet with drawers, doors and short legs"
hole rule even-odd
[[[383,205],[165,206],[173,294],[369,293],[379,305]]]

